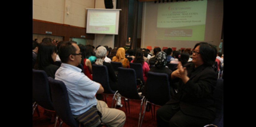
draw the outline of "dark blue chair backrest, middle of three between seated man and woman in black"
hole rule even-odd
[[[137,92],[136,73],[131,68],[118,68],[118,92],[129,99],[141,99]]]

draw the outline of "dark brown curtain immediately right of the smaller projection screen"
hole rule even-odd
[[[114,46],[117,48],[124,47],[127,41],[128,6],[129,0],[117,0],[116,9],[122,9],[119,15],[118,35],[115,35]]]

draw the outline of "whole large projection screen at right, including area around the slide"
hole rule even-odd
[[[198,42],[218,46],[223,0],[143,4],[141,47],[193,48]]]

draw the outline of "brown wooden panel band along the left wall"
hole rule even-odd
[[[64,41],[69,41],[70,37],[81,38],[81,35],[85,39],[95,37],[94,34],[87,34],[86,28],[33,19],[33,33],[46,34],[46,31],[51,31],[51,35],[63,36]]]

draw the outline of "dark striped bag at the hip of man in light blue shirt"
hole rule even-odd
[[[88,111],[79,116],[74,116],[74,118],[85,127],[97,127],[101,124],[101,117],[101,112],[96,106],[92,106]]]

